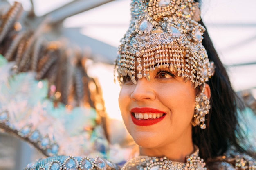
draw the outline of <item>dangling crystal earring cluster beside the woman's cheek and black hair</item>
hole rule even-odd
[[[205,83],[203,84],[202,91],[195,97],[195,111],[191,124],[195,127],[200,124],[201,129],[205,129],[205,115],[209,113],[211,108],[209,98],[204,94]]]

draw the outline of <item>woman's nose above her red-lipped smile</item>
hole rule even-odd
[[[134,86],[130,97],[134,101],[155,100],[153,83],[147,81],[146,78],[137,80],[137,84]]]

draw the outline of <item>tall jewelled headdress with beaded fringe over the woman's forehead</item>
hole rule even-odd
[[[121,39],[116,60],[119,83],[127,75],[135,84],[136,78],[150,81],[150,71],[166,67],[195,87],[213,76],[214,64],[202,45],[205,28],[198,24],[198,3],[132,0],[131,7],[130,27]]]

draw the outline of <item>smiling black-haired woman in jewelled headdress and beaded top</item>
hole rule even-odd
[[[116,70],[119,107],[140,156],[122,169],[256,169],[254,154],[241,145],[237,108],[242,107],[198,3],[133,0],[131,12]],[[67,168],[70,160],[73,168],[119,169],[87,157],[51,157],[27,169]]]

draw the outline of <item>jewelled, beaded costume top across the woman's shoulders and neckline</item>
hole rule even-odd
[[[187,162],[175,162],[166,157],[139,156],[121,166],[99,157],[55,156],[30,163],[24,170],[256,170],[256,159],[246,154],[229,150],[223,156],[205,164],[198,151],[187,157]]]

